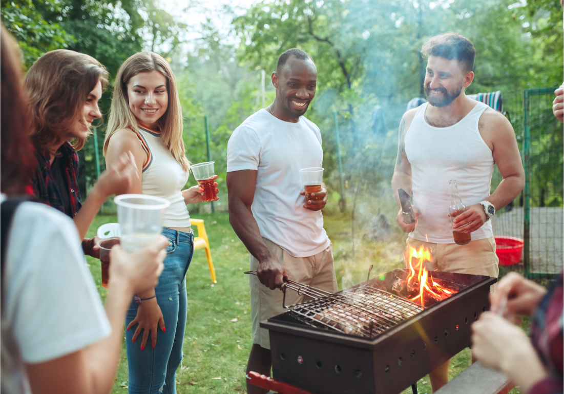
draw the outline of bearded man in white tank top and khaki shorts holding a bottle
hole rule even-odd
[[[525,172],[513,127],[501,113],[466,97],[472,83],[474,46],[455,33],[430,38],[421,52],[428,57],[428,103],[407,111],[399,126],[398,157],[392,179],[399,212],[396,221],[409,233],[408,248],[425,246],[430,271],[497,277],[497,256],[490,217],[521,192]],[[503,181],[490,195],[493,165]],[[466,212],[454,227],[472,240],[455,244],[450,224],[450,188],[456,180]],[[403,221],[398,189],[413,193],[415,224]],[[464,230],[461,227],[464,226]],[[406,261],[407,264],[407,261]],[[448,382],[448,361],[430,374],[433,391]]]

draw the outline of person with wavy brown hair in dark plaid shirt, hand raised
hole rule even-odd
[[[102,117],[98,100],[108,72],[89,55],[59,49],[47,52],[29,68],[27,90],[32,142],[37,166],[33,194],[73,219],[83,239],[105,199],[129,187],[134,159],[124,153],[117,165],[100,176],[82,204],[78,190],[78,155],[94,119]],[[85,254],[98,257],[94,239],[83,239]]]

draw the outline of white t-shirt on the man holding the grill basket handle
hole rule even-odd
[[[321,211],[303,208],[302,168],[322,167],[318,126],[301,116],[285,122],[267,110],[249,116],[227,144],[227,172],[257,170],[251,206],[262,237],[294,257],[316,255],[329,246]]]

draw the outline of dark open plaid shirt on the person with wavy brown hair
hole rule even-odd
[[[33,194],[40,202],[65,213],[61,193],[67,192],[72,211],[71,218],[73,218],[82,206],[77,183],[78,154],[68,141],[61,145],[59,152],[62,154],[60,157],[61,166],[64,168],[69,190],[59,190],[59,186],[55,183],[55,178],[51,174],[51,164],[49,163],[51,155],[49,150],[36,147],[34,154],[37,158],[37,167],[32,176]]]

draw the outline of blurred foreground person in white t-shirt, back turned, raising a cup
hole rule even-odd
[[[168,242],[161,237],[133,255],[112,249],[104,311],[73,222],[45,204],[15,205],[34,163],[19,53],[3,26],[0,57],[0,391],[107,394],[131,297],[156,286]]]

